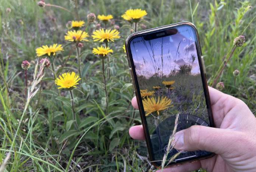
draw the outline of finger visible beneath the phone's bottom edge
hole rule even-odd
[[[194,163],[182,164],[175,167],[165,168],[164,172],[191,172],[201,168],[200,161],[196,161]],[[161,170],[157,170],[157,172],[161,172]]]

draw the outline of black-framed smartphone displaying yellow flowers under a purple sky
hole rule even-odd
[[[167,152],[175,125],[177,132],[192,125],[214,127],[197,29],[191,22],[157,27],[130,35],[125,47],[150,161],[160,167],[166,153],[167,163],[179,152]],[[213,155],[181,152],[169,166]]]

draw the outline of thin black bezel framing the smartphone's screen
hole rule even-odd
[[[170,25],[165,25],[165,26],[162,26],[162,27],[151,28],[149,30],[144,30],[144,31],[140,31],[140,32],[137,32],[137,33],[133,33],[133,34],[129,35],[129,37],[125,41],[125,49],[127,51],[129,70],[131,72],[133,85],[134,85],[134,89],[135,89],[135,95],[136,95],[137,102],[138,102],[138,108],[139,108],[140,116],[141,116],[141,123],[143,124],[143,128],[144,128],[144,134],[145,134],[145,137],[146,137],[148,154],[149,154],[149,157],[150,157],[151,164],[153,164],[154,167],[156,167],[156,168],[160,168],[160,166],[157,165],[156,162],[153,161],[154,155],[152,153],[152,148],[151,148],[152,146],[151,146],[151,142],[150,142],[150,135],[149,135],[149,132],[148,132],[147,122],[145,122],[146,121],[146,116],[144,115],[145,112],[144,112],[144,109],[142,108],[142,99],[141,99],[141,96],[140,96],[138,80],[137,80],[137,76],[136,76],[136,73],[135,73],[135,66],[134,66],[134,63],[133,63],[133,60],[132,60],[130,43],[136,37],[141,37],[141,36],[144,36],[146,34],[156,33],[156,32],[159,32],[159,31],[170,30],[174,27],[178,27],[178,26],[181,26],[181,25],[189,25],[195,31],[195,34],[196,34],[196,37],[197,37],[197,41],[195,41],[195,45],[196,45],[196,48],[197,48],[198,63],[199,63],[199,66],[200,66],[200,73],[201,73],[201,78],[202,78],[202,82],[203,82],[204,95],[205,95],[205,98],[206,98],[206,105],[207,105],[207,111],[208,111],[208,116],[209,116],[209,121],[210,121],[210,127],[215,127],[214,121],[213,121],[213,113],[211,111],[211,102],[210,102],[210,96],[209,96],[209,93],[208,93],[206,72],[205,72],[205,69],[204,69],[204,62],[203,62],[203,58],[202,58],[200,40],[199,40],[197,28],[195,27],[194,24],[192,24],[191,22],[179,22],[179,23],[176,23],[176,24],[170,24]],[[182,161],[182,162],[173,163],[173,164],[168,165],[167,167],[171,167],[171,166],[175,166],[175,165],[181,165],[181,164],[185,164],[185,163],[191,163],[191,162],[198,161],[198,160],[203,160],[203,159],[206,159],[206,158],[213,157],[214,155],[215,154],[212,153],[210,155],[206,155],[206,156],[199,157],[199,158],[194,158],[192,160],[185,160],[185,161]]]

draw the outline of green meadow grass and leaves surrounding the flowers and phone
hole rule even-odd
[[[256,115],[256,21],[255,0],[251,1],[128,1],[128,0],[46,0],[47,4],[68,9],[37,5],[36,0],[1,0],[0,3],[0,164],[2,171],[148,171],[155,170],[148,161],[146,144],[129,137],[128,129],[141,123],[130,100],[134,96],[127,57],[122,50],[131,27],[121,15],[129,8],[147,11],[138,30],[193,21],[200,34],[201,49],[210,81],[230,53],[234,38],[245,35],[246,43],[236,48],[218,82],[223,92],[242,99]],[[11,12],[7,12],[7,8]],[[78,72],[77,57],[64,40],[70,20],[86,20],[90,12],[112,14],[120,27],[121,38],[110,43],[108,115],[102,61],[91,53],[99,43],[90,41],[81,48],[81,77],[73,90],[75,127],[69,92],[58,93],[53,74],[45,70],[42,95],[39,92],[27,108],[24,70],[28,60],[29,87],[37,63],[36,48],[63,44],[65,51],[55,59],[56,74]],[[99,21],[97,21],[99,22]],[[143,24],[143,25],[142,25]],[[113,25],[108,25],[113,28]],[[89,25],[89,35],[96,23]],[[133,31],[132,31],[133,32]],[[71,52],[71,53],[70,53]],[[67,61],[67,63],[66,63]],[[106,66],[107,67],[107,66]],[[238,69],[239,75],[233,76]],[[35,87],[39,88],[39,85]],[[21,120],[21,116],[23,116]],[[4,160],[7,160],[4,163]],[[1,172],[2,172],[1,171]],[[203,171],[203,170],[199,170]]]

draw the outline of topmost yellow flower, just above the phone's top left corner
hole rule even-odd
[[[141,18],[143,18],[145,15],[147,15],[147,12],[145,10],[141,9],[128,9],[124,15],[122,15],[122,18],[124,20],[134,20],[135,22],[138,22]]]

